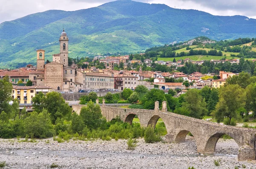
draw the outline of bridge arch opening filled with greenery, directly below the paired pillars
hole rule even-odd
[[[153,115],[148,121],[147,127],[153,127],[159,135],[163,136],[167,134],[166,125],[159,115]]]

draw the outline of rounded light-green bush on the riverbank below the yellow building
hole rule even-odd
[[[24,134],[33,135],[35,138],[49,138],[54,134],[53,125],[47,110],[41,113],[32,112],[24,121]]]

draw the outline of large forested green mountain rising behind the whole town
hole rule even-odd
[[[46,59],[59,52],[65,28],[70,57],[145,51],[156,45],[207,36],[256,37],[256,20],[214,16],[197,10],[119,0],[78,11],[50,10],[0,24],[0,68],[35,64],[37,49]]]

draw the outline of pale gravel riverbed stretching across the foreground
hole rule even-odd
[[[215,155],[199,155],[195,141],[147,144],[137,139],[135,150],[127,150],[126,140],[73,141],[58,143],[52,138],[35,143],[0,139],[0,162],[4,169],[256,169],[255,161],[237,161],[238,146],[233,139],[219,139]],[[47,144],[47,140],[49,143]],[[220,166],[215,166],[214,161]]]

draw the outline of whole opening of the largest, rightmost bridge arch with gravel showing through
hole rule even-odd
[[[221,139],[220,139],[221,138]],[[228,142],[225,140],[229,140]],[[238,155],[239,144],[232,136],[219,132],[212,135],[208,140],[204,148],[204,153],[218,153],[218,154],[232,154]]]

